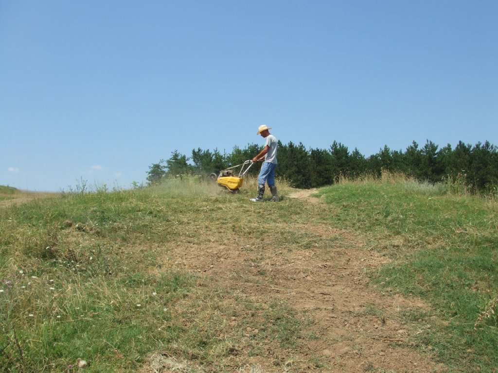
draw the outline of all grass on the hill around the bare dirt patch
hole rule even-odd
[[[274,366],[291,369],[291,351],[316,336],[306,314],[217,288],[166,258],[172,248],[214,241],[253,253],[248,265],[255,266],[268,250],[327,255],[327,240],[285,229],[289,222],[306,226],[310,216],[356,231],[392,259],[370,273],[373,286],[431,305],[402,315],[417,331],[411,346],[436,353],[452,372],[498,366],[496,318],[483,318],[474,331],[483,312],[496,311],[489,306],[498,295],[495,199],[406,178],[322,188],[326,205],[306,208],[285,202],[291,191],[285,184],[283,203],[249,202],[255,189],[251,180],[235,195],[172,180],[112,192],[77,188],[0,207],[0,369],[69,372],[82,358],[88,372],[134,372],[156,354],[171,364],[230,372],[235,366],[221,362],[266,359],[264,348],[275,352],[268,358]],[[269,229],[268,205],[278,249],[259,239]],[[373,304],[361,312],[384,316]]]

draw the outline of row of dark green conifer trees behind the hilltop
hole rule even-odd
[[[175,150],[167,160],[149,167],[147,183],[153,185],[179,175],[205,177],[252,159],[260,150],[257,144],[248,144],[244,149],[236,146],[231,153],[223,154],[218,149],[197,148],[189,157]],[[450,144],[440,148],[427,140],[422,147],[413,141],[404,151],[391,150],[385,145],[378,153],[365,157],[357,148],[350,152],[337,141],[328,149],[279,141],[276,173],[298,188],[332,185],[340,178],[380,176],[382,170],[387,170],[430,183],[461,178],[476,190],[491,190],[498,185],[497,150],[489,141],[476,145],[460,141],[454,148]],[[259,167],[253,167],[249,174],[257,175],[258,171]]]

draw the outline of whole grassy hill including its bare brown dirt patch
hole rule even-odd
[[[493,372],[496,198],[392,175],[279,187],[0,206],[1,370]]]

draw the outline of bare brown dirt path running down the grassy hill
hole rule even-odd
[[[311,193],[298,191],[292,197],[320,202]],[[310,244],[290,250],[278,234],[276,244],[275,238],[234,243],[213,237],[216,244],[178,247],[169,253],[173,266],[203,274],[215,286],[257,302],[285,301],[313,320],[316,338],[292,352],[276,351],[268,341],[262,356],[243,357],[248,364],[260,372],[446,371],[430,356],[409,348],[409,336],[423,330],[423,320],[410,327],[400,318],[400,312],[427,310],[427,305],[368,285],[367,274],[388,263],[386,257],[366,247],[355,232],[326,224],[290,222],[280,229],[305,234]],[[320,245],[314,247],[313,242]],[[291,366],[276,368],[271,363],[275,354],[286,353],[293,356]],[[312,364],[313,357],[324,364]]]

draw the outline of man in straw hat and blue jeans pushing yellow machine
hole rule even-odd
[[[263,150],[252,158],[252,162],[263,161],[261,171],[257,177],[257,197],[251,198],[252,202],[261,202],[264,194],[264,183],[268,184],[271,191],[271,201],[278,201],[277,187],[275,186],[275,168],[277,166],[278,140],[271,135],[265,124],[259,126],[256,135],[264,138]]]

